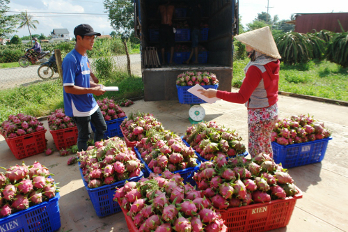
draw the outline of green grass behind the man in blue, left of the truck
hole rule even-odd
[[[113,73],[107,81],[101,80],[101,84],[118,86],[120,91],[108,91],[102,96],[95,96],[95,99],[108,97],[118,100],[143,95],[141,77],[129,77],[124,72]],[[63,87],[59,80],[0,91],[0,123],[6,121],[10,114],[23,113],[40,117],[63,107]]]

